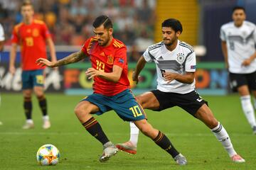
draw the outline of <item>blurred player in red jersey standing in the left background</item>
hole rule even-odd
[[[31,96],[34,91],[38,98],[39,106],[43,113],[43,128],[50,128],[50,120],[47,113],[46,96],[43,91],[44,77],[43,69],[38,67],[36,60],[39,57],[46,58],[46,43],[50,48],[50,57],[56,61],[55,47],[53,40],[50,38],[48,28],[43,21],[33,19],[33,6],[29,1],[24,1],[21,5],[21,14],[23,21],[14,27],[11,38],[11,52],[9,72],[14,74],[15,59],[17,46],[21,45],[21,67],[22,67],[22,90],[23,90],[23,107],[26,114],[26,123],[23,129],[33,128],[32,102]]]

